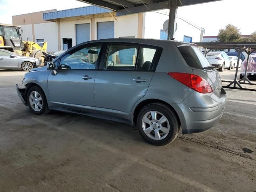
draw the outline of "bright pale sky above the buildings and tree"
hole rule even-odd
[[[88,5],[77,0],[0,0],[0,23],[12,24],[13,15]],[[227,24],[237,26],[243,35],[247,35],[256,31],[253,22],[255,9],[256,0],[221,0],[179,7],[177,16],[205,28],[204,36],[216,36],[218,30]],[[250,18],[253,21],[250,21]]]

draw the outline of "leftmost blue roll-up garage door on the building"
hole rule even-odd
[[[76,24],[76,44],[90,41],[90,24]]]

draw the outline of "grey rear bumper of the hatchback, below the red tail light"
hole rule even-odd
[[[219,98],[213,93],[193,92],[183,102],[174,106],[180,118],[182,133],[198,133],[214,126],[223,115],[226,100],[226,92],[222,88]]]

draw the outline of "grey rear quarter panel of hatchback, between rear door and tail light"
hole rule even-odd
[[[167,103],[180,103],[194,90],[178,82],[168,72],[192,73],[173,42],[167,42],[150,82],[145,98],[156,98]]]

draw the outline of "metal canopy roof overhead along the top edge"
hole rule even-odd
[[[78,0],[116,11],[116,16],[170,8],[172,0]],[[218,0],[178,0],[178,6],[201,4]]]

